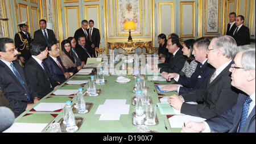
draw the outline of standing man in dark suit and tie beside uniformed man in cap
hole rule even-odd
[[[43,41],[44,44],[56,44],[57,40],[54,32],[51,29],[46,28],[46,20],[41,19],[39,21],[40,29],[34,33],[34,41]]]

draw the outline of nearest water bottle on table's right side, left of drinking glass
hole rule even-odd
[[[141,100],[141,90],[137,91],[138,98],[136,103],[136,123],[138,125],[144,124],[144,108]]]

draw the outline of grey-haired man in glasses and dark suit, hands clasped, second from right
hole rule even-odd
[[[182,96],[171,95],[169,103],[185,115],[212,118],[228,111],[237,103],[237,90],[230,84],[229,67],[236,56],[237,46],[231,36],[217,36],[208,46],[208,63],[216,70],[204,85],[193,92]],[[184,102],[200,101],[203,104]]]

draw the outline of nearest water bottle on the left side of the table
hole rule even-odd
[[[66,102],[67,107],[67,118],[66,118],[66,130],[69,133],[76,132],[78,129],[76,126],[75,116],[72,112],[71,101]]]

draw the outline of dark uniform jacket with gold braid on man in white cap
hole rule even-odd
[[[20,33],[21,38],[19,36],[19,33]],[[28,37],[27,37],[27,35],[28,35]],[[32,42],[32,39],[31,39],[31,35],[29,32],[27,32],[27,35],[25,35],[22,31],[20,31],[20,32],[16,33],[15,37],[14,37],[15,48],[19,52],[18,58],[19,57],[25,58],[24,63],[26,63],[28,61],[28,59],[31,57],[30,44]],[[27,43],[24,42],[25,40],[27,40]]]

